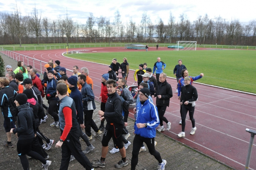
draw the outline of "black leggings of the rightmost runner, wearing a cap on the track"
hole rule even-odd
[[[189,111],[189,118],[192,122],[192,127],[195,127],[195,119],[194,119],[194,111],[195,111],[195,107],[193,106],[189,106],[189,105],[184,105],[182,104],[182,131],[185,131],[185,126],[186,126],[186,116],[187,116],[187,111]]]

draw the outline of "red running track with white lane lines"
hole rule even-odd
[[[73,49],[83,50],[83,49]],[[122,48],[85,48],[86,52],[124,52],[136,51],[125,50]],[[149,50],[155,50],[150,48]],[[159,48],[159,50],[170,50],[167,48]],[[108,72],[108,66],[96,63],[80,61],[63,57],[63,50],[48,51],[20,51],[18,53],[27,55],[41,61],[48,62],[49,59],[59,60],[61,67],[72,70],[74,65],[79,68],[87,67],[89,76],[93,79],[93,92],[95,100],[99,101],[102,74]],[[129,59],[128,59],[129,61]],[[25,64],[27,59],[24,60]],[[109,61],[109,64],[111,61]],[[32,61],[29,61],[30,65]],[[35,67],[40,69],[39,66]],[[168,66],[167,66],[168,67]],[[67,72],[70,76],[72,73]],[[134,71],[130,71],[128,77],[128,85],[134,83]],[[195,135],[190,135],[191,121],[189,116],[186,119],[186,137],[179,138],[177,134],[181,131],[179,125],[180,105],[175,93],[176,79],[167,78],[167,81],[173,88],[173,98],[170,100],[170,107],[167,107],[165,116],[171,122],[171,129],[163,133],[175,140],[178,140],[195,150],[198,150],[210,157],[213,157],[233,168],[244,169],[247,152],[249,148],[250,134],[245,131],[246,128],[256,130],[256,96],[234,92],[206,85],[194,83],[193,85],[198,91],[198,101],[195,108],[195,121],[197,131]],[[155,102],[155,101],[154,101]],[[130,107],[130,117],[133,118],[132,107]],[[164,123],[166,127],[166,124]],[[160,142],[161,143],[161,142]],[[256,142],[254,140],[252,156],[250,161],[250,169],[256,169]]]

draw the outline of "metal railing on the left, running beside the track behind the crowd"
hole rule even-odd
[[[13,60],[23,61],[24,65],[26,65],[26,66],[32,65],[33,68],[35,68],[37,70],[37,72],[40,72],[41,74],[43,74],[43,72],[45,72],[44,65],[47,64],[47,62],[45,62],[45,61],[34,59],[34,58],[28,57],[26,55],[18,54],[16,52],[9,51],[4,48],[0,48],[0,53],[6,55],[7,57],[9,57]],[[42,63],[43,63],[43,65],[42,65]],[[69,71],[69,73],[71,75],[73,74],[73,70],[69,70],[69,69],[66,69],[66,70]]]

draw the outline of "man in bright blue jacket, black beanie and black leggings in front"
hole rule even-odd
[[[131,170],[135,170],[138,163],[139,150],[143,142],[147,144],[149,153],[158,160],[158,170],[164,170],[166,165],[166,161],[155,150],[154,139],[156,137],[156,127],[159,124],[159,117],[156,106],[148,100],[149,96],[150,91],[148,88],[140,90],[140,103],[137,105],[136,121],[134,124],[135,137],[132,149]]]

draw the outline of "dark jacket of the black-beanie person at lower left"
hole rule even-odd
[[[17,128],[13,129],[13,133],[18,133],[20,140],[32,139],[36,134],[35,118],[33,111],[28,103],[17,107],[19,110]]]

